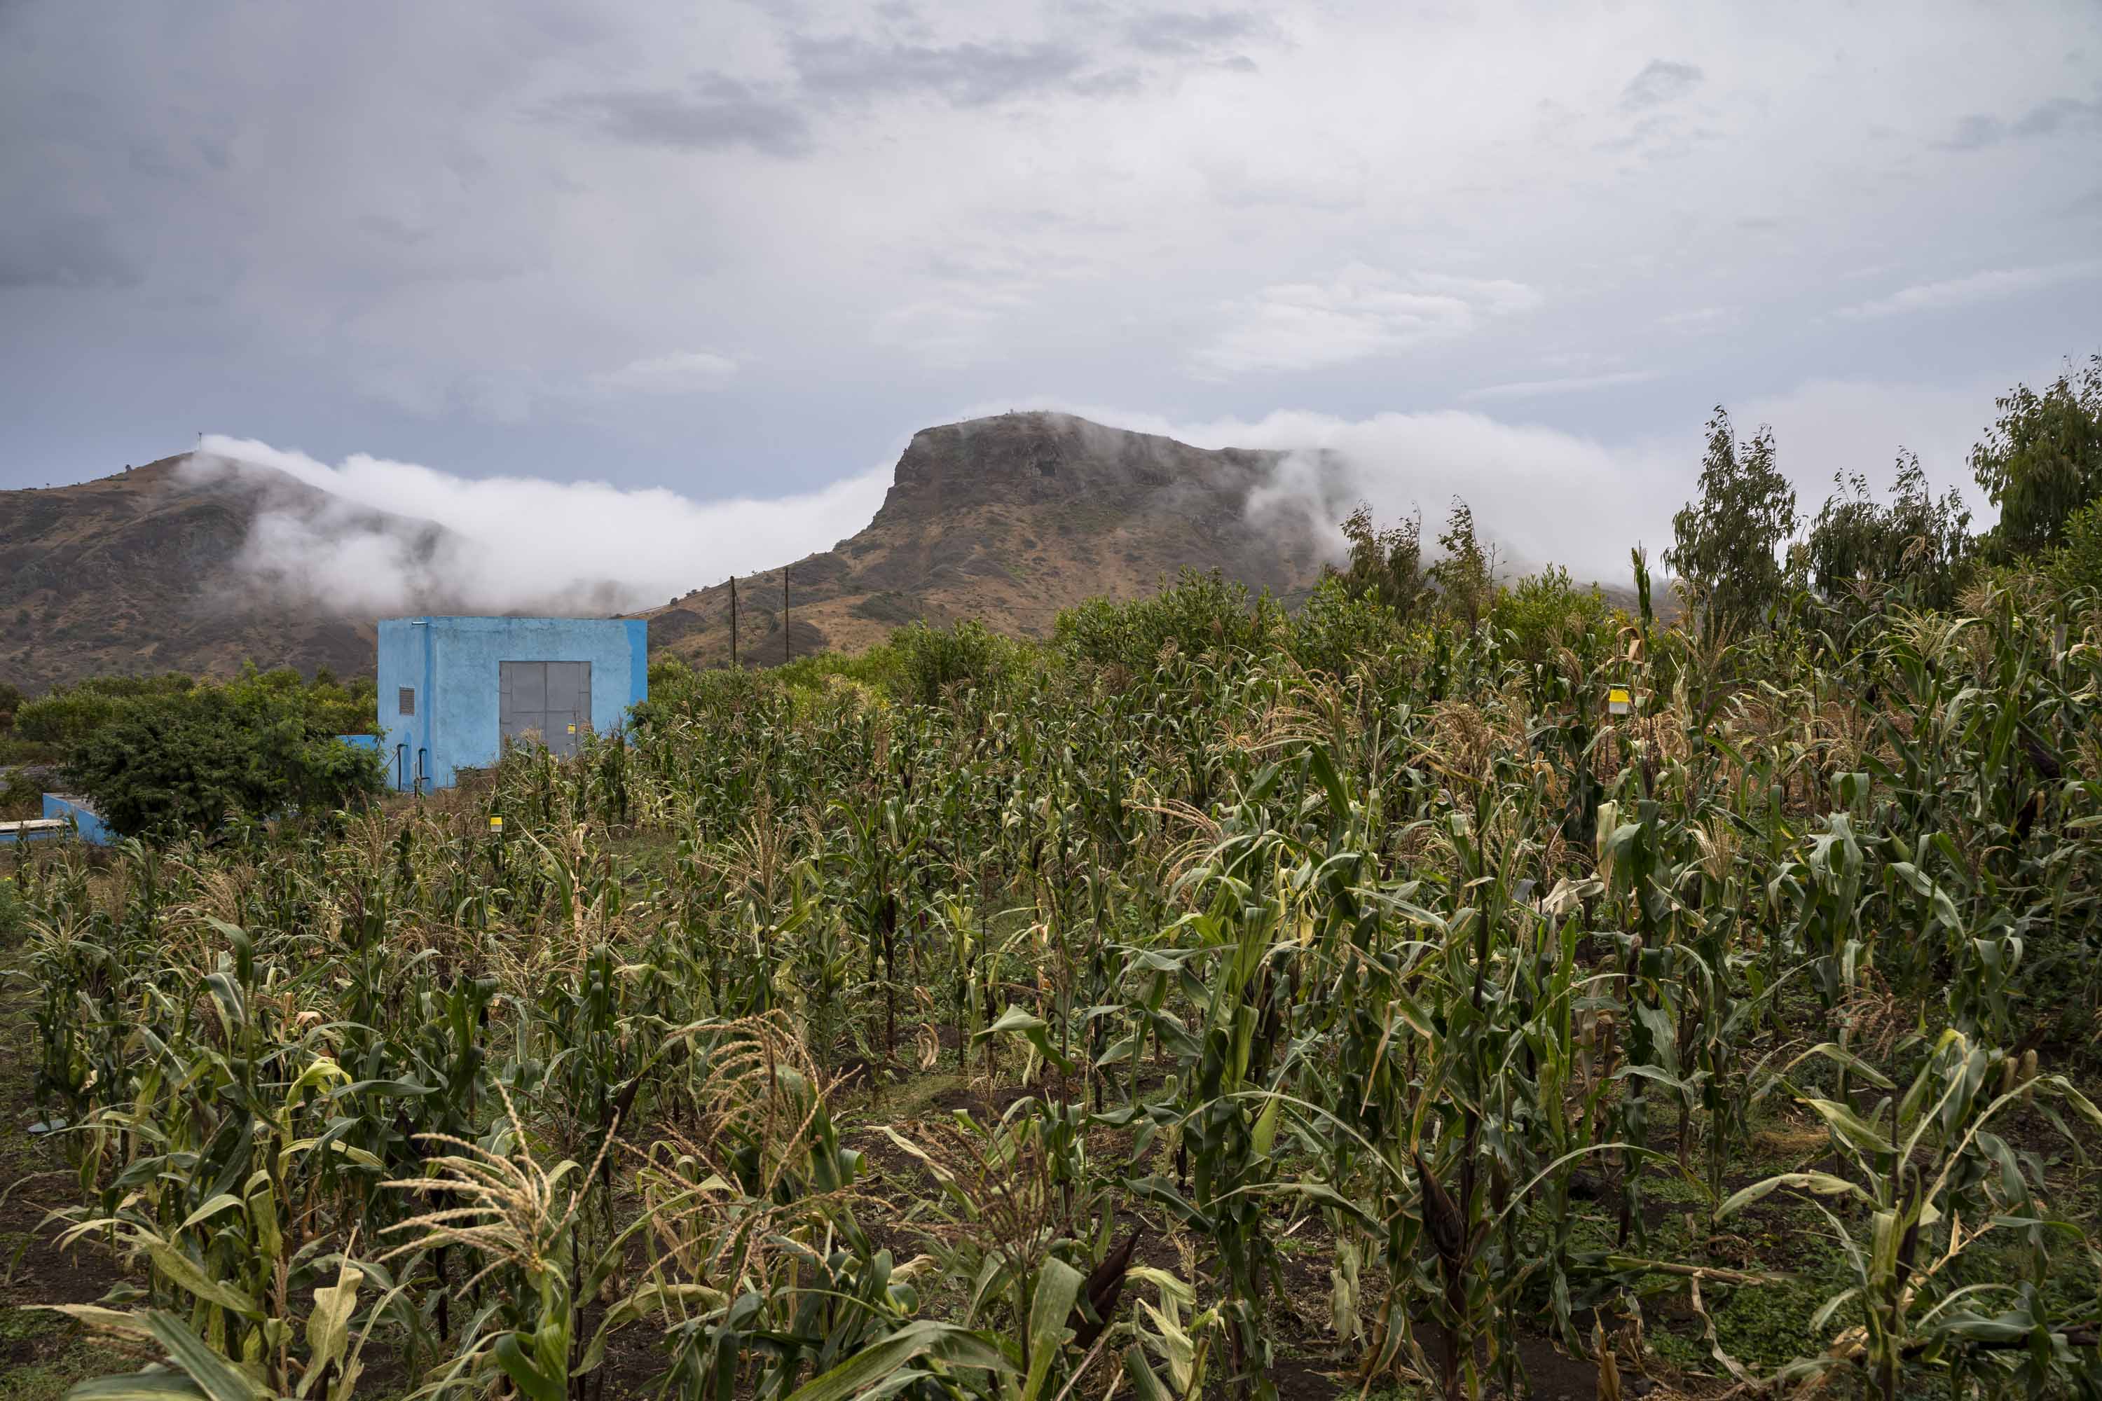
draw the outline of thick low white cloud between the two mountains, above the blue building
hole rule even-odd
[[[256,475],[242,565],[259,592],[345,618],[420,609],[597,615],[780,567],[862,529],[889,464],[778,500],[698,502],[603,481],[471,479],[353,454],[338,464],[206,435],[195,477]],[[313,492],[271,489],[284,473]]]

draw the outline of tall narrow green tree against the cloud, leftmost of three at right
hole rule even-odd
[[[1701,500],[1671,519],[1665,567],[1679,576],[1707,628],[1757,622],[1782,590],[1780,544],[1795,534],[1795,487],[1774,462],[1774,431],[1738,441],[1715,405],[1701,462]]]

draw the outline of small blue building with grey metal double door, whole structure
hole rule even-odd
[[[650,695],[639,618],[385,618],[378,651],[380,758],[404,792],[450,788],[523,735],[574,754]]]

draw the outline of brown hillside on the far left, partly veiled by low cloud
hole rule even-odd
[[[198,477],[183,460],[0,492],[0,681],[42,691],[118,672],[231,674],[244,660],[372,670],[372,620],[269,603],[240,565],[259,510],[334,502],[282,473]],[[376,523],[414,527],[366,513]]]

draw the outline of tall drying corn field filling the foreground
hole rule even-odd
[[[2020,588],[704,672],[11,859],[74,1395],[2098,1397],[2098,699]]]

